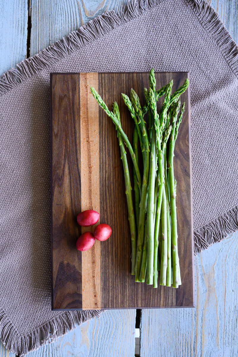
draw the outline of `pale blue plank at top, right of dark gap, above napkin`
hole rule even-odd
[[[30,55],[69,35],[93,17],[126,3],[127,0],[32,0]]]

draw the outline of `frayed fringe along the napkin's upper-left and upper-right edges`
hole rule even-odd
[[[216,11],[205,0],[185,0],[198,17],[201,25],[217,43],[228,65],[238,75],[238,46],[226,30]],[[0,78],[0,95],[60,61],[72,52],[93,42],[102,35],[126,24],[126,22],[143,15],[144,12],[164,2],[164,0],[132,0],[117,12],[110,10],[99,15],[71,32],[68,36],[55,42],[40,53],[21,61],[16,68],[5,72]]]

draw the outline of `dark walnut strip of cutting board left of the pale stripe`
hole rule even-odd
[[[81,211],[80,76],[52,74],[50,85],[52,304],[72,309],[82,307],[81,252],[75,248],[81,234],[76,221]]]

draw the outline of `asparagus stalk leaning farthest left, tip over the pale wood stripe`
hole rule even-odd
[[[111,120],[113,121],[113,123],[116,126],[116,129],[118,129],[118,131],[120,132],[123,141],[125,141],[125,144],[128,147],[128,150],[130,152],[133,165],[135,167],[137,183],[138,183],[138,187],[139,187],[140,195],[141,195],[141,186],[142,186],[141,174],[140,174],[140,170],[139,170],[139,167],[138,167],[138,164],[137,164],[137,161],[136,161],[136,155],[135,155],[135,152],[132,149],[131,143],[130,143],[127,135],[125,134],[125,132],[122,130],[121,123],[118,122],[118,120],[116,119],[115,115],[108,109],[108,107],[106,106],[105,102],[103,102],[103,100],[100,97],[100,95],[96,92],[96,90],[93,87],[90,87],[90,90],[91,90],[91,93],[92,93],[93,97],[96,99],[96,101],[100,105],[100,107],[111,118]]]

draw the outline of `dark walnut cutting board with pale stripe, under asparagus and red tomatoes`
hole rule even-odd
[[[155,74],[157,88],[173,79],[175,91],[187,72]],[[181,96],[185,113],[175,146],[178,253],[182,285],[153,288],[131,276],[131,241],[125,182],[115,126],[90,92],[93,86],[109,108],[117,101],[124,131],[132,142],[134,123],[121,93],[135,89],[144,104],[148,73],[51,73],[51,246],[52,310],[193,307],[194,263],[189,89]],[[162,98],[159,105],[162,104]],[[131,159],[128,155],[130,170]],[[132,176],[131,176],[132,177]],[[76,216],[93,209],[98,223],[112,227],[105,242],[80,252]]]

